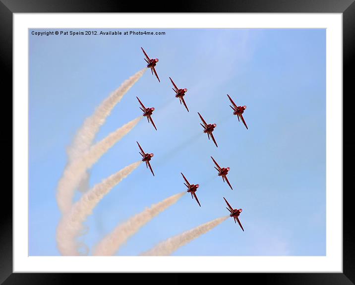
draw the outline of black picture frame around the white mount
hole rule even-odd
[[[122,2],[112,0],[0,0],[0,62],[2,69],[2,100],[10,98],[12,94],[12,17],[13,13],[58,13],[58,12],[273,12],[273,13],[342,13],[343,14],[343,93],[354,95],[351,84],[354,81],[352,70],[354,69],[355,50],[355,0],[190,0],[178,2],[174,10],[158,2],[149,2],[148,5],[134,2]],[[174,4],[174,2],[172,2]],[[148,6],[148,10],[146,9]],[[4,89],[4,87],[6,89]],[[345,96],[343,96],[344,99]],[[2,101],[3,104],[4,101]],[[12,105],[12,101],[10,103]],[[3,105],[4,106],[4,105]],[[8,105],[7,105],[8,106]],[[9,109],[9,108],[4,108]],[[343,112],[344,122],[351,121],[352,112]],[[2,121],[7,122],[8,115],[1,112]],[[12,133],[12,129],[11,129]],[[11,141],[12,142],[12,141]],[[1,138],[1,143],[6,149],[10,149],[10,142]],[[349,137],[343,145],[350,149],[354,145],[354,139]],[[349,146],[349,147],[348,147]],[[12,144],[11,144],[12,149]],[[5,175],[4,175],[5,176]],[[9,175],[8,175],[9,176]],[[8,177],[7,176],[7,177]],[[342,191],[343,189],[339,189]],[[355,227],[352,215],[351,199],[352,188],[344,187],[343,191],[343,273],[265,273],[265,274],[238,274],[228,276],[235,282],[262,282],[265,284],[355,284]],[[63,284],[83,281],[90,278],[91,282],[103,281],[102,274],[87,276],[84,274],[52,274],[52,273],[12,273],[12,204],[4,201],[12,199],[11,192],[1,189],[0,207],[0,283],[2,284]],[[8,206],[3,207],[4,204]],[[329,210],[328,210],[329,211]],[[306,214],[305,214],[306,215]],[[237,266],[237,265],[236,265]],[[186,274],[169,274],[170,284],[181,284]],[[191,275],[188,276],[190,278]],[[106,277],[106,276],[105,276]],[[130,283],[140,279],[147,282],[153,277],[148,274],[129,276]],[[204,282],[204,276],[199,276],[199,282]],[[222,280],[219,274],[214,276],[217,282]],[[225,275],[222,277],[225,279]],[[114,277],[116,278],[116,277]],[[133,279],[132,279],[133,278]],[[211,276],[208,276],[209,281]]]

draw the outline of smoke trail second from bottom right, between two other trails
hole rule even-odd
[[[96,246],[93,255],[96,256],[111,256],[118,251],[119,247],[124,244],[129,237],[134,235],[140,228],[151,221],[155,216],[172,206],[186,192],[178,193],[171,196],[158,204],[152,205],[150,208],[133,216],[125,223],[118,225],[110,234],[104,237]]]

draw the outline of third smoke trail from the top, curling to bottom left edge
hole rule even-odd
[[[57,228],[57,245],[62,255],[82,255],[79,252],[80,244],[76,241],[85,229],[82,223],[91,215],[100,200],[141,163],[141,161],[133,163],[96,184],[72,206],[69,213],[63,216]]]

